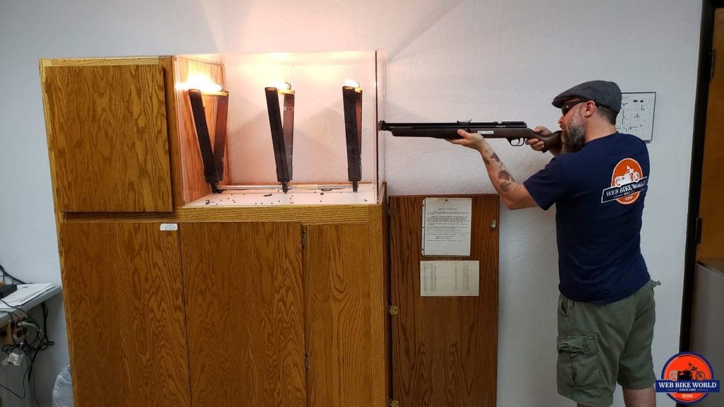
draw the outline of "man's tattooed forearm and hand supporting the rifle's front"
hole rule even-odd
[[[508,169],[500,161],[500,157],[495,154],[492,148],[490,148],[487,141],[483,136],[477,133],[468,133],[465,130],[458,130],[460,139],[447,140],[450,143],[458,144],[459,146],[465,146],[473,148],[480,153],[480,156],[485,163],[485,169],[488,172],[490,182],[493,184],[493,188],[500,194],[500,198],[508,209],[522,209],[531,208],[537,206],[531,194],[528,193],[526,187],[518,182],[515,182],[513,175],[510,175]]]

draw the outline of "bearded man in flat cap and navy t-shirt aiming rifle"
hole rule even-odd
[[[647,192],[646,144],[616,131],[621,93],[594,80],[560,93],[563,151],[523,183],[516,182],[481,135],[458,130],[451,143],[479,151],[508,209],[556,204],[558,393],[578,406],[613,403],[618,382],[627,407],[655,406],[651,343],[654,286],[641,256]],[[550,134],[545,127],[534,130]],[[542,150],[540,140],[527,142]],[[562,153],[562,154],[559,154]]]

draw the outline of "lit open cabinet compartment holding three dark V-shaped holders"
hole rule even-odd
[[[183,204],[195,207],[379,203],[384,182],[384,148],[376,124],[384,99],[384,66],[382,51],[175,56]],[[358,83],[358,87],[352,85],[352,93],[350,80]],[[283,190],[277,177],[279,167],[269,114],[273,109],[265,92],[270,86],[281,89],[281,83],[289,83],[293,91],[293,122],[285,117],[290,113],[289,98],[279,93],[279,117],[285,117],[287,136],[286,146],[282,146],[287,150],[282,153],[286,153],[291,164],[288,191]],[[214,84],[219,86],[207,87]],[[352,114],[354,106],[348,104],[345,116],[345,84],[348,102],[350,94],[361,102],[356,115]],[[218,171],[223,172],[217,183],[220,193],[212,191],[204,175],[203,148],[197,137],[199,123],[194,119],[189,97],[189,89],[196,88],[202,91],[216,166],[223,168]],[[224,121],[219,117],[219,112],[224,112],[219,101],[226,94]],[[225,132],[217,128],[224,122]],[[288,139],[292,132],[293,144]],[[218,143],[216,135],[224,133],[223,161],[219,161],[218,146],[222,143]],[[356,143],[353,135],[357,135]],[[348,158],[348,149],[357,154],[356,159]],[[278,146],[276,150],[278,153]],[[350,162],[357,162],[361,168],[353,171],[348,166]],[[354,183],[358,184],[356,191],[350,181],[353,173]]]

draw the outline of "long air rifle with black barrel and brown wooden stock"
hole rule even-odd
[[[511,146],[523,146],[526,140],[536,138],[543,142],[543,152],[561,147],[560,131],[539,135],[528,128],[526,122],[454,122],[454,123],[388,123],[379,122],[379,130],[392,132],[395,137],[461,138],[458,129],[478,133],[484,138],[505,138]]]

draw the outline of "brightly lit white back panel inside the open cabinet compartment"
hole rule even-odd
[[[361,84],[362,134],[374,134],[375,68],[374,51],[225,54],[232,184],[278,183],[264,93],[274,80],[295,90],[294,182],[348,182],[342,85],[348,79]],[[361,143],[362,182],[376,182],[374,141]]]

